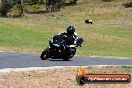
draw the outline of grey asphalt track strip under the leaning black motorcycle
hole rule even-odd
[[[88,66],[88,65],[132,65],[132,58],[102,58],[88,56],[74,56],[70,61],[41,60],[40,54],[0,52],[0,69],[27,68],[27,67],[50,67],[50,66]]]

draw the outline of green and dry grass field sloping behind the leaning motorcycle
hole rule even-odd
[[[84,38],[77,55],[132,57],[131,26],[96,25],[132,24],[132,14],[129,14],[132,8],[122,6],[130,1],[79,0],[78,5],[60,12],[0,18],[0,50],[41,52],[48,46],[48,39],[73,25]],[[86,18],[91,18],[94,24],[85,24]]]

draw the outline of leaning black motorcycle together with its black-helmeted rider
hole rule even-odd
[[[50,47],[42,52],[40,58],[46,60],[51,55],[51,58],[69,60],[76,53],[75,47],[81,46],[82,42],[83,39],[79,38],[77,33],[75,33],[75,28],[69,26],[65,32],[59,33],[49,40]]]

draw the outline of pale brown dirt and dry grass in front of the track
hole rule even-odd
[[[84,67],[83,67],[84,68]],[[127,73],[132,75],[130,66],[87,66],[87,73],[111,74]],[[10,72],[0,76],[0,88],[131,88],[129,84],[85,84],[79,86],[75,80],[77,68],[54,68],[49,70],[33,70]]]

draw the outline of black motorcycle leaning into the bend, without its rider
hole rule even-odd
[[[67,40],[64,35],[56,35],[49,40],[49,47],[47,47],[42,53],[40,58],[42,60],[51,59],[63,59],[69,61],[76,53],[76,47],[82,45],[83,39],[78,38],[76,45],[67,45]]]

